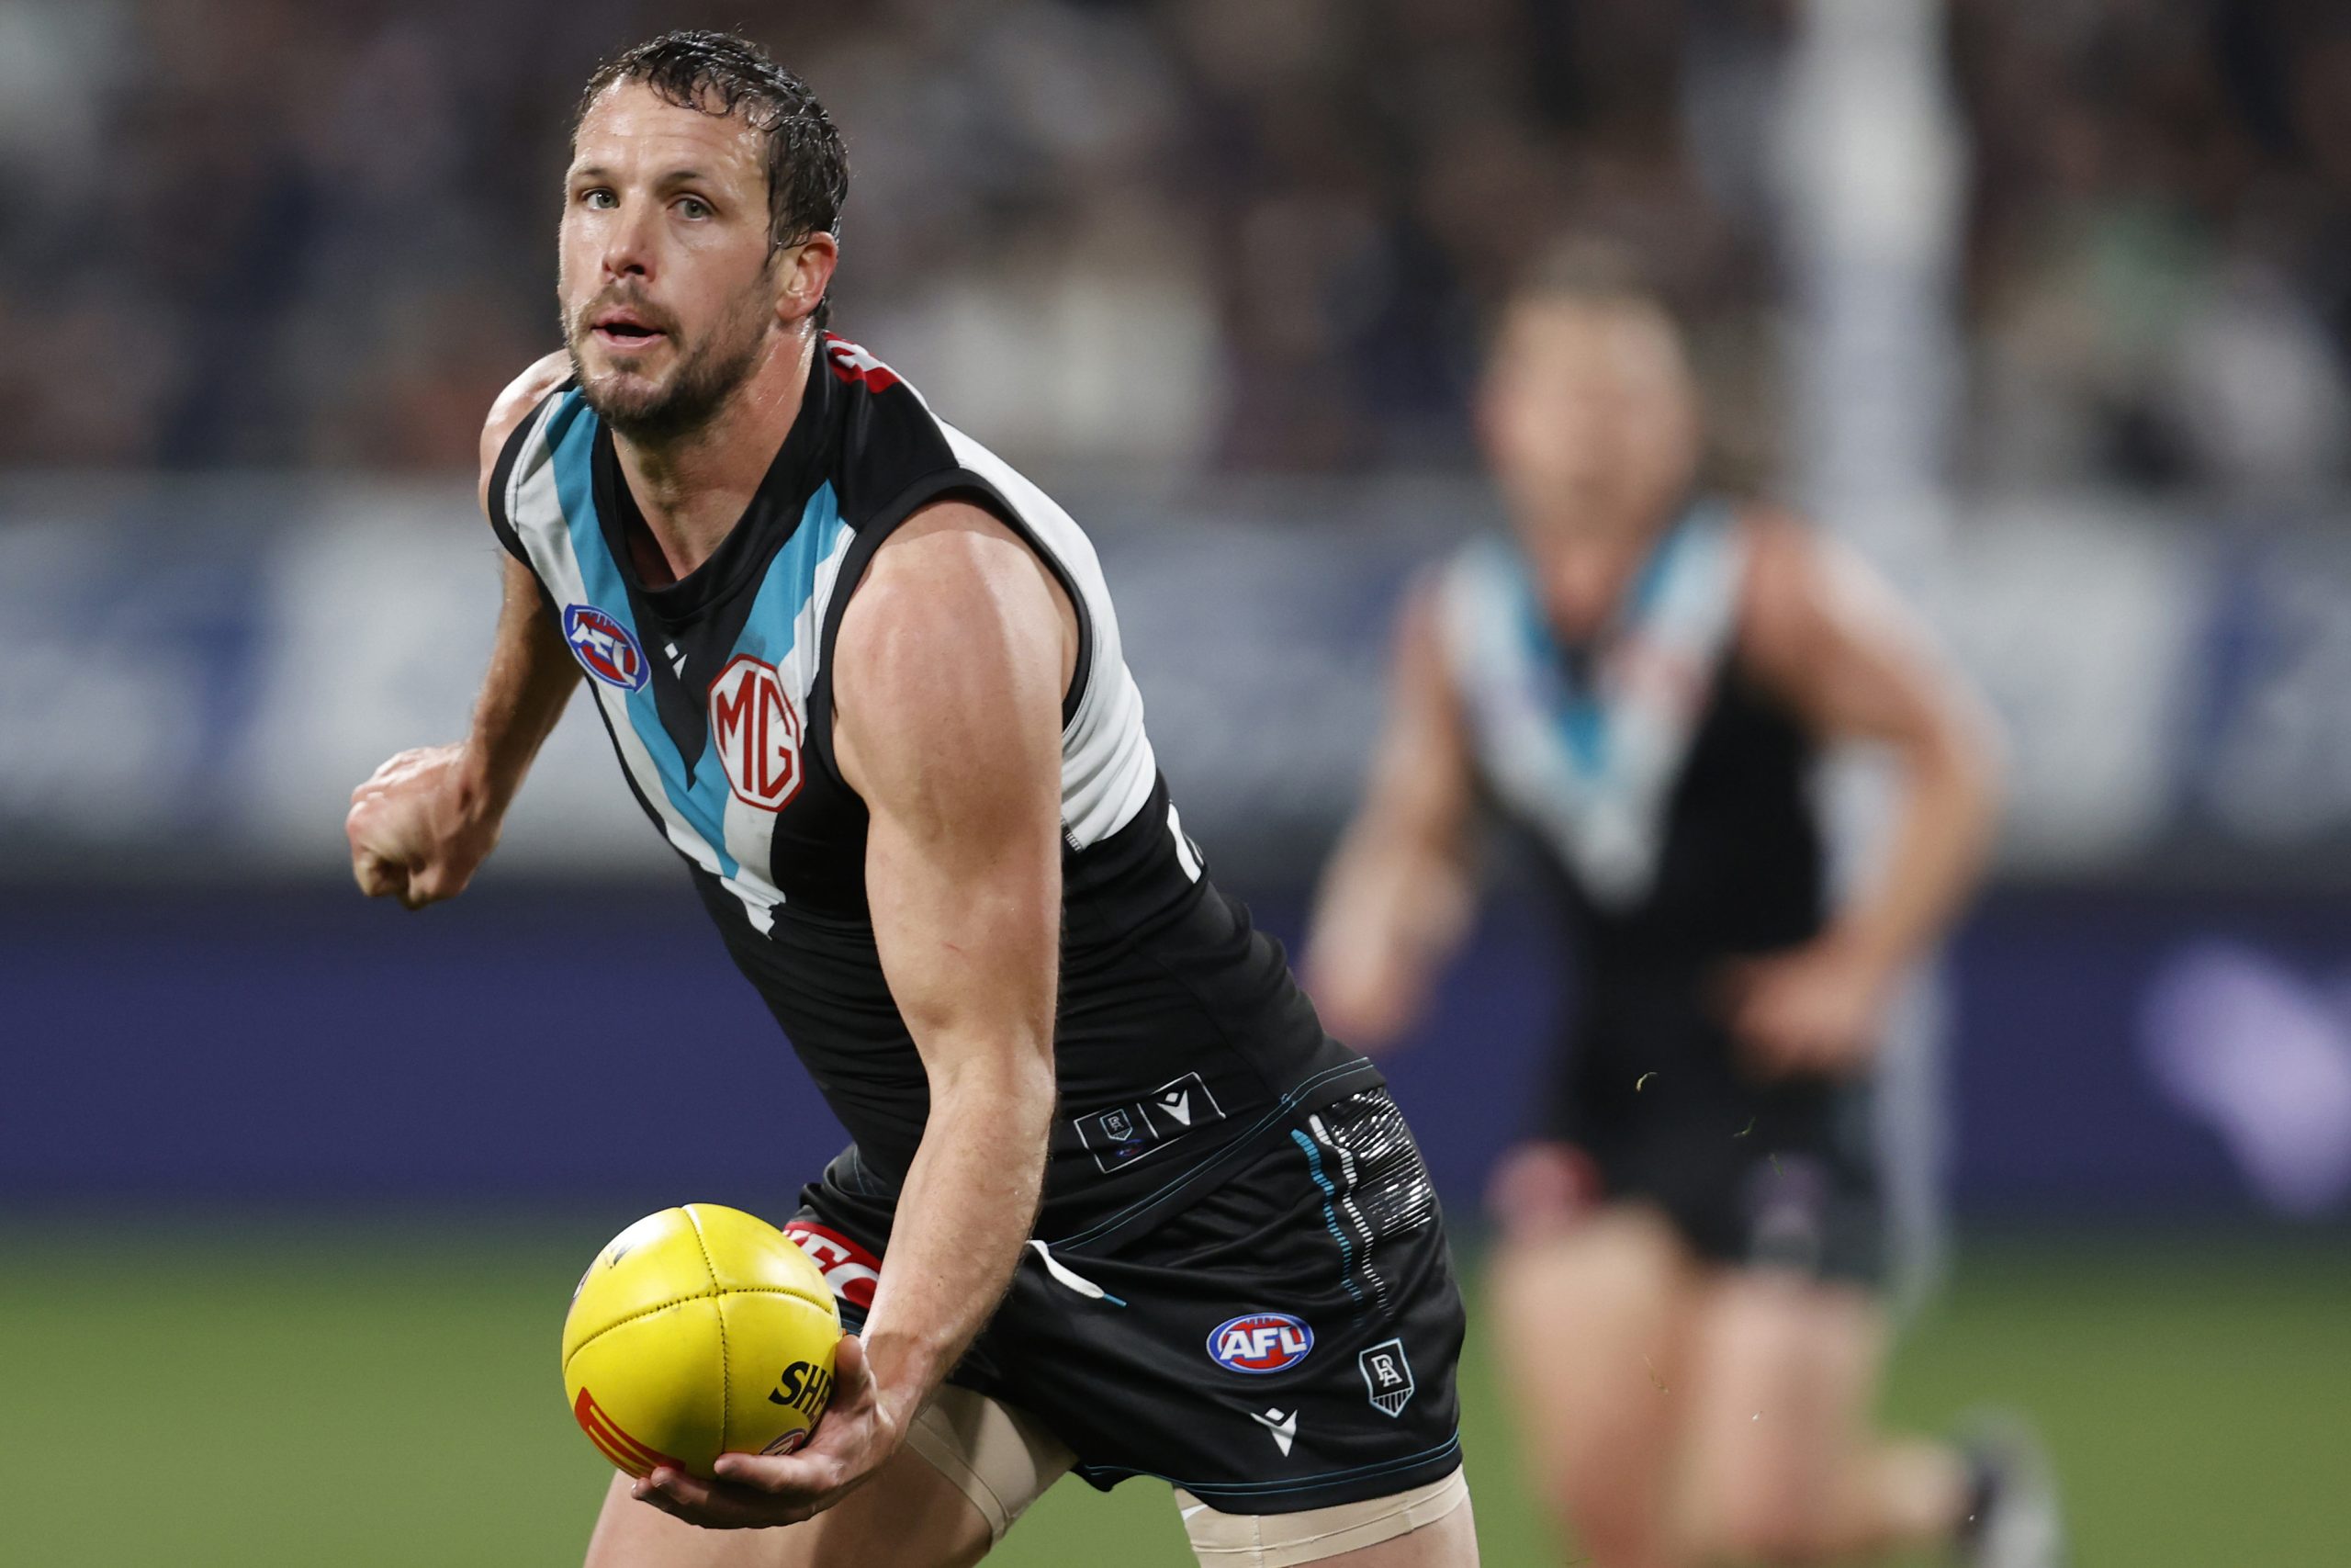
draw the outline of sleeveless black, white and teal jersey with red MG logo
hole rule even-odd
[[[621,771],[686,860],[726,945],[893,1194],[929,1086],[875,954],[865,802],[832,759],[832,639],[889,534],[959,498],[1002,517],[1077,609],[1063,703],[1060,1105],[1039,1237],[1150,1225],[1281,1117],[1380,1084],[1331,1041],[1279,945],[1218,893],[1143,731],[1093,545],[1034,484],[825,334],[743,520],[677,583],[639,581],[644,529],[611,433],[564,383],[489,487],[491,527],[545,590]]]

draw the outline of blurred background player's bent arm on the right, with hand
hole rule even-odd
[[[1810,950],[1756,966],[1740,999],[1742,1032],[1768,1053],[1838,1065],[1867,1053],[1893,980],[1975,889],[1998,816],[1998,743],[1911,609],[1791,524],[1756,534],[1740,656],[1822,741],[1886,745],[1902,769],[1876,875]]]

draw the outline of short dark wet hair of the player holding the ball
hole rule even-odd
[[[766,136],[766,237],[773,249],[809,235],[842,233],[849,202],[849,153],[832,115],[809,85],[778,66],[766,49],[738,33],[677,31],[651,38],[595,68],[571,110],[578,139],[588,108],[616,82],[642,82],[665,103],[705,115],[743,115]],[[816,324],[832,317],[832,299],[816,306]]]

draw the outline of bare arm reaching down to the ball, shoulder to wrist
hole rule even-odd
[[[931,1117],[865,1324],[896,1422],[994,1312],[1037,1218],[1060,969],[1067,630],[1004,524],[938,505],[877,555],[835,644],[837,755]]]

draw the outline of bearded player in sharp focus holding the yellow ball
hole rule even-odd
[[[588,1561],[971,1563],[1077,1469],[1211,1563],[1474,1563],[1411,1133],[1201,872],[1086,536],[823,329],[844,195],[741,38],[597,71],[473,729],[353,795],[360,886],[451,898],[585,679],[853,1135],[790,1225],[858,1331],[809,1448],[618,1479]]]

